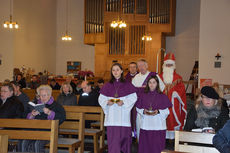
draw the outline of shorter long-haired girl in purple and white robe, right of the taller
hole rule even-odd
[[[141,116],[138,153],[161,153],[165,148],[166,118],[172,104],[161,93],[157,76],[147,81],[147,86],[138,92],[137,113]]]

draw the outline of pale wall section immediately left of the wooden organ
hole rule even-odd
[[[57,0],[56,74],[66,74],[67,61],[81,61],[82,70],[94,71],[94,46],[84,44],[84,0],[69,0],[71,42],[63,42],[66,31],[66,1]]]

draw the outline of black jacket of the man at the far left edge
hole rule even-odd
[[[7,98],[4,104],[0,99],[0,118],[22,118],[23,112],[24,106],[17,97]]]

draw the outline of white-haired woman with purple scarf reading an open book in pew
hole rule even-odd
[[[59,124],[61,124],[66,118],[65,110],[51,96],[52,88],[49,85],[41,85],[37,88],[37,93],[39,96],[38,104],[44,104],[44,108],[40,112],[35,109],[32,110],[28,113],[27,119],[59,120]],[[44,153],[47,143],[49,142],[44,140],[23,140],[22,152]],[[30,150],[31,146],[32,150]]]

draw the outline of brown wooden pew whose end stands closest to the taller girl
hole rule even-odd
[[[64,106],[66,112],[83,112],[85,113],[85,120],[100,121],[100,129],[85,129],[85,136],[93,136],[94,153],[104,150],[105,129],[104,129],[104,113],[101,107],[95,106]],[[93,113],[93,114],[92,114]],[[75,135],[77,130],[60,129],[60,133]],[[100,145],[98,145],[98,138],[100,137]]]

